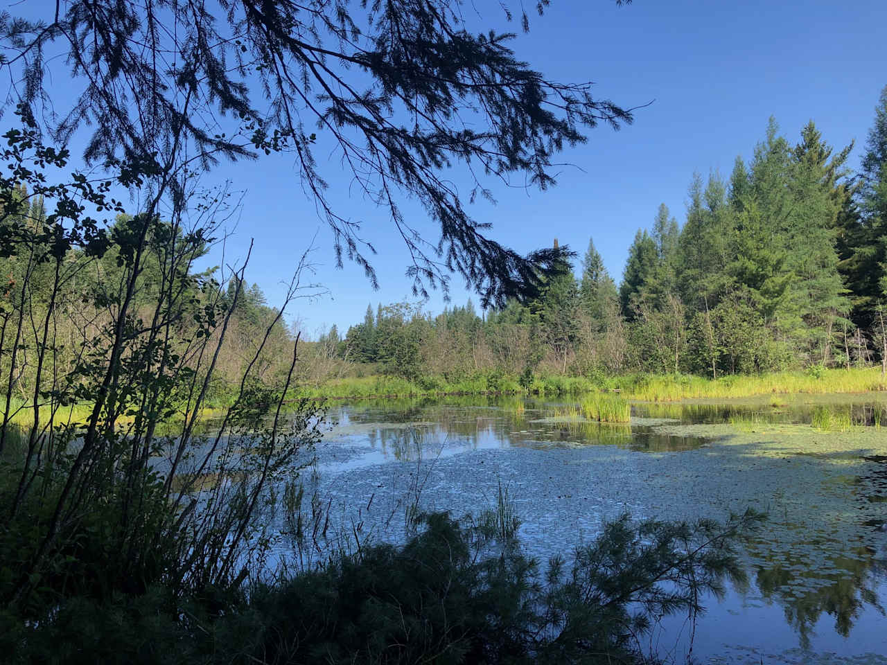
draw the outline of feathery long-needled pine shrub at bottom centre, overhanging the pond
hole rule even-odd
[[[703,592],[742,579],[733,536],[757,519],[623,517],[542,574],[517,547],[490,552],[482,529],[424,515],[401,548],[373,547],[256,590],[252,615],[224,620],[216,635],[253,636],[244,661],[269,664],[646,662],[635,638],[655,620],[699,611]]]

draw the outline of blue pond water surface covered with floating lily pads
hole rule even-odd
[[[566,405],[335,405],[311,489],[341,537],[371,542],[403,538],[414,499],[477,514],[502,487],[543,561],[624,512],[724,519],[752,507],[768,518],[742,546],[748,587],[706,599],[692,640],[687,617],[671,617],[647,648],[674,662],[887,663],[887,397],[636,403],[622,426],[561,418]],[[817,430],[823,407],[863,426]]]

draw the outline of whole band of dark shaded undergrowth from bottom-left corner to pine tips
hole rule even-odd
[[[742,579],[726,525],[624,517],[543,574],[519,544],[443,513],[401,547],[366,548],[240,599],[69,598],[27,627],[3,620],[20,662],[640,662],[655,618],[700,610],[703,592]],[[495,547],[495,549],[493,549]]]

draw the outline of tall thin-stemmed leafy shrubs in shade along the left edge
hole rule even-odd
[[[152,589],[169,602],[236,596],[270,546],[268,526],[254,516],[274,484],[298,473],[297,455],[318,441],[323,420],[310,401],[291,404],[286,423],[280,419],[295,365],[282,309],[256,309],[261,293],[247,291],[252,311],[270,316],[239,319],[257,337],[251,357],[214,434],[198,435],[244,293],[243,267],[233,293],[192,270],[221,221],[224,196],[211,197],[200,208],[208,217],[190,225],[176,200],[169,222],[150,208],[119,215],[105,195],[110,183],[75,172],[70,183],[49,184],[51,175],[25,168],[66,166],[34,131],[6,139],[4,159],[16,175],[0,192],[19,207],[0,222],[4,254],[21,270],[0,312],[8,377],[0,399],[0,621],[20,641],[27,626],[78,621],[70,608],[91,615],[121,599],[141,611],[138,599]],[[121,167],[117,180],[138,186],[145,175]],[[27,206],[35,218],[18,215],[28,188],[43,192],[39,206]],[[75,200],[118,215],[100,222]],[[263,353],[275,335],[292,343],[282,373]],[[115,630],[119,621],[95,628]],[[85,644],[98,637],[82,636]]]

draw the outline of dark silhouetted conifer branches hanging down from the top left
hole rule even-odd
[[[179,158],[187,168],[293,153],[334,231],[338,262],[357,262],[375,285],[373,246],[336,212],[315,160],[318,146],[332,147],[365,197],[388,208],[412,257],[415,293],[446,290],[456,271],[485,304],[502,302],[538,293],[569,251],[517,254],[486,237],[489,225],[465,201],[491,198],[489,178],[520,176],[546,189],[556,153],[632,114],[594,98],[591,83],[546,79],[516,58],[513,34],[473,34],[461,10],[461,0],[70,0],[51,22],[7,13],[7,104],[25,102],[57,141],[89,127],[91,163],[169,168],[164,155],[177,136],[188,145]],[[520,21],[528,30],[525,12]],[[51,58],[59,53],[85,87],[56,109],[45,76],[61,66]],[[443,178],[459,162],[467,196]],[[404,196],[439,223],[436,243],[404,219]]]

